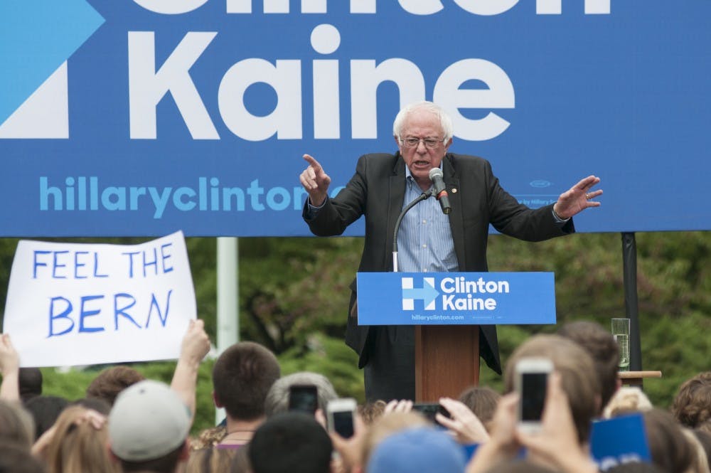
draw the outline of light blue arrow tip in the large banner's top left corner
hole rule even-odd
[[[0,124],[104,21],[85,0],[0,1]]]

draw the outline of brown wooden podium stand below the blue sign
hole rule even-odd
[[[415,326],[416,402],[457,398],[478,383],[478,325]]]

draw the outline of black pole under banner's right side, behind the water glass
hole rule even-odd
[[[624,307],[629,317],[629,369],[642,371],[642,345],[637,307],[637,243],[634,233],[622,233]]]

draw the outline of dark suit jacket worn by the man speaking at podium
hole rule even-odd
[[[573,233],[572,219],[565,225],[555,222],[552,206],[530,209],[516,201],[498,184],[491,164],[475,156],[448,153],[442,161],[451,213],[449,225],[459,270],[483,272],[486,264],[488,225],[522,240],[547,240]],[[360,156],[355,175],[335,198],[328,198],[324,208],[309,218],[304,206],[304,220],[314,235],[341,235],[348,225],[365,215],[365,246],[359,272],[392,271],[392,235],[395,220],[405,199],[405,161],[397,154]],[[370,343],[375,326],[358,326],[355,311],[355,281],[351,284],[351,307],[346,327],[346,344],[360,356],[363,368],[370,357]],[[369,337],[369,334],[371,335]],[[496,326],[481,326],[480,353],[486,364],[501,373]]]

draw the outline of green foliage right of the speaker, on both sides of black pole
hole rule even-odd
[[[492,271],[554,271],[558,325],[592,320],[609,327],[626,317],[622,243],[619,234],[579,234],[541,243],[493,236]],[[642,368],[663,378],[645,381],[645,391],[661,408],[671,404],[678,386],[709,369],[711,339],[711,233],[638,233],[637,297]],[[520,327],[525,334],[555,327]],[[522,341],[520,331],[499,327],[502,361]],[[512,343],[513,342],[513,343]],[[491,374],[482,370],[482,383]],[[496,378],[491,381],[496,383]]]

